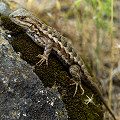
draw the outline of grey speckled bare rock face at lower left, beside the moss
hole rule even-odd
[[[55,88],[43,86],[32,67],[0,36],[0,119],[66,120],[64,103],[58,96]]]

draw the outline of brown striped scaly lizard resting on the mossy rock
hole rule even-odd
[[[76,85],[73,96],[75,96],[78,86],[82,89],[82,95],[84,94],[84,89],[81,85],[81,80],[83,80],[85,84],[96,92],[113,119],[116,120],[113,112],[105,102],[99,87],[93,82],[91,75],[87,71],[84,61],[80,55],[75,52],[66,37],[62,36],[54,28],[46,25],[26,9],[21,8],[12,12],[9,15],[9,18],[12,22],[24,28],[28,36],[30,36],[36,44],[44,47],[43,55],[39,54],[37,56],[38,58],[41,58],[41,60],[36,65],[41,66],[43,62],[46,62],[46,65],[48,66],[48,58],[53,50],[57,57],[60,58],[64,64],[69,66],[69,73]],[[82,76],[85,76],[85,79],[82,79]]]

